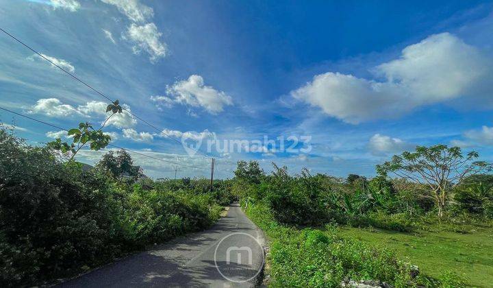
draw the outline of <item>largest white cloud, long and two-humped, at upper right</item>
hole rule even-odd
[[[489,56],[457,36],[435,34],[372,69],[383,81],[328,72],[291,95],[347,123],[387,119],[419,106],[489,95],[491,64]]]

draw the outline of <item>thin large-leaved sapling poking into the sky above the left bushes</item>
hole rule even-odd
[[[102,129],[105,127],[108,120],[113,117],[115,114],[121,113],[123,108],[118,104],[118,100],[112,102],[112,104],[106,107],[106,112],[112,112],[108,118],[105,119],[103,124],[98,130],[94,130],[92,125],[88,122],[79,123],[79,128],[73,128],[68,130],[68,136],[73,136],[72,143],[68,144],[67,142],[62,142],[62,139],[58,138],[55,141],[49,142],[47,145],[51,149],[58,150],[63,154],[71,153],[72,156],[68,160],[71,162],[77,152],[86,145],[89,145],[91,150],[97,151],[99,149],[103,149],[108,146],[111,141],[111,137],[109,135],[103,134]]]

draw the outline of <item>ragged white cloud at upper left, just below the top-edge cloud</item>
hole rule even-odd
[[[166,44],[160,42],[161,35],[162,33],[157,31],[157,27],[154,23],[147,23],[144,25],[132,23],[128,27],[124,38],[131,40],[136,44],[132,47],[134,53],[138,54],[144,50],[151,56],[149,60],[151,60],[152,63],[155,63],[160,58],[164,58],[168,52]]]

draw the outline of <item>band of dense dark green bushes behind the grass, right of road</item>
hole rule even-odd
[[[306,169],[291,176],[286,167],[276,165],[266,175],[254,161],[238,163],[235,175],[232,189],[240,195],[243,206],[262,202],[277,221],[285,224],[319,226],[336,221],[355,227],[409,231],[426,228],[425,222],[453,221],[463,213],[472,215],[470,219],[474,215],[493,215],[493,177],[488,175],[466,178],[455,193],[458,214],[448,209],[443,219],[432,215],[436,213],[433,197],[423,195],[420,184],[402,178],[378,176],[368,180],[350,175],[344,180],[323,174],[312,176]]]

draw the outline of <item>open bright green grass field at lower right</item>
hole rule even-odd
[[[437,278],[449,270],[468,278],[475,287],[493,283],[493,228],[466,226],[466,232],[396,232],[375,228],[340,227],[342,236],[390,248],[418,265],[420,272]]]

